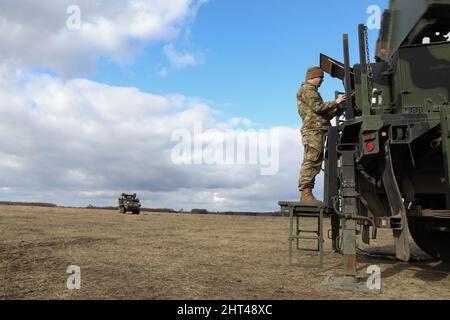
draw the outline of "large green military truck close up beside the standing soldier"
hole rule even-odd
[[[392,230],[398,260],[411,259],[411,235],[430,256],[450,261],[450,0],[390,0],[375,61],[367,27],[358,34],[359,63],[350,63],[347,34],[343,63],[320,56],[348,97],[325,150],[324,207],[345,271],[342,283],[329,284],[341,288],[356,279],[357,236],[370,244],[382,228]],[[298,244],[293,217],[311,208],[280,206]]]

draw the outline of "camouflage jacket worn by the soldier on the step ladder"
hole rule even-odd
[[[309,83],[303,83],[298,90],[297,106],[303,120],[302,135],[327,131],[338,110],[335,101],[323,102],[317,87]]]

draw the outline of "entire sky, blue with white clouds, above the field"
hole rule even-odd
[[[387,4],[2,0],[0,201],[111,206],[128,192],[146,207],[273,211],[298,199],[305,71],[320,53],[342,61],[347,32],[357,62],[358,24]],[[328,77],[321,92],[332,99],[336,89]],[[202,156],[227,147],[195,124],[231,140],[270,138],[239,151],[257,151],[256,164],[178,163],[176,132]]]

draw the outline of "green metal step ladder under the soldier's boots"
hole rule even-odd
[[[280,201],[279,206],[281,207],[282,215],[289,215],[289,265],[302,268],[310,269],[322,269],[323,268],[323,216],[327,209],[325,204],[322,206],[307,205],[300,202],[289,202]],[[317,219],[317,229],[315,230],[305,230],[302,229],[301,220],[305,218],[315,218]],[[294,223],[295,220],[295,223]],[[300,246],[301,240],[316,240],[317,249],[302,248]],[[318,252],[319,262],[317,264],[311,263],[301,263],[293,261],[294,254],[294,243],[295,248],[298,252]]]

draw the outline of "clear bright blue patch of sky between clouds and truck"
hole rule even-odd
[[[212,104],[225,117],[249,118],[263,127],[299,126],[295,93],[308,66],[325,53],[342,61],[342,35],[349,33],[352,62],[358,58],[357,25],[367,8],[385,9],[387,0],[256,1],[212,0],[175,43],[203,63],[170,70],[164,42],[142,49],[132,64],[99,63],[90,79],[134,86],[162,95],[181,93]],[[378,30],[369,33],[373,58]],[[340,81],[327,77],[321,91],[332,99]]]

